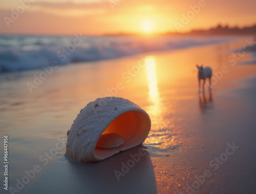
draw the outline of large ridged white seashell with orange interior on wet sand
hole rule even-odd
[[[148,114],[130,100],[98,98],[80,111],[67,132],[66,156],[101,161],[142,144],[150,128]]]

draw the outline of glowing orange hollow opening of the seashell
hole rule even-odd
[[[102,136],[105,134],[117,134],[123,139],[121,146],[116,146],[110,149],[102,149],[102,147],[95,147],[95,155],[97,157],[106,157],[118,153],[143,143],[150,129],[149,117],[146,117],[140,111],[127,112],[116,119],[114,119],[105,131],[102,133],[100,139],[101,142],[97,142],[97,145],[102,142]],[[103,140],[104,141],[104,140]],[[114,140],[113,140],[114,141]],[[107,144],[107,143],[105,143]]]

